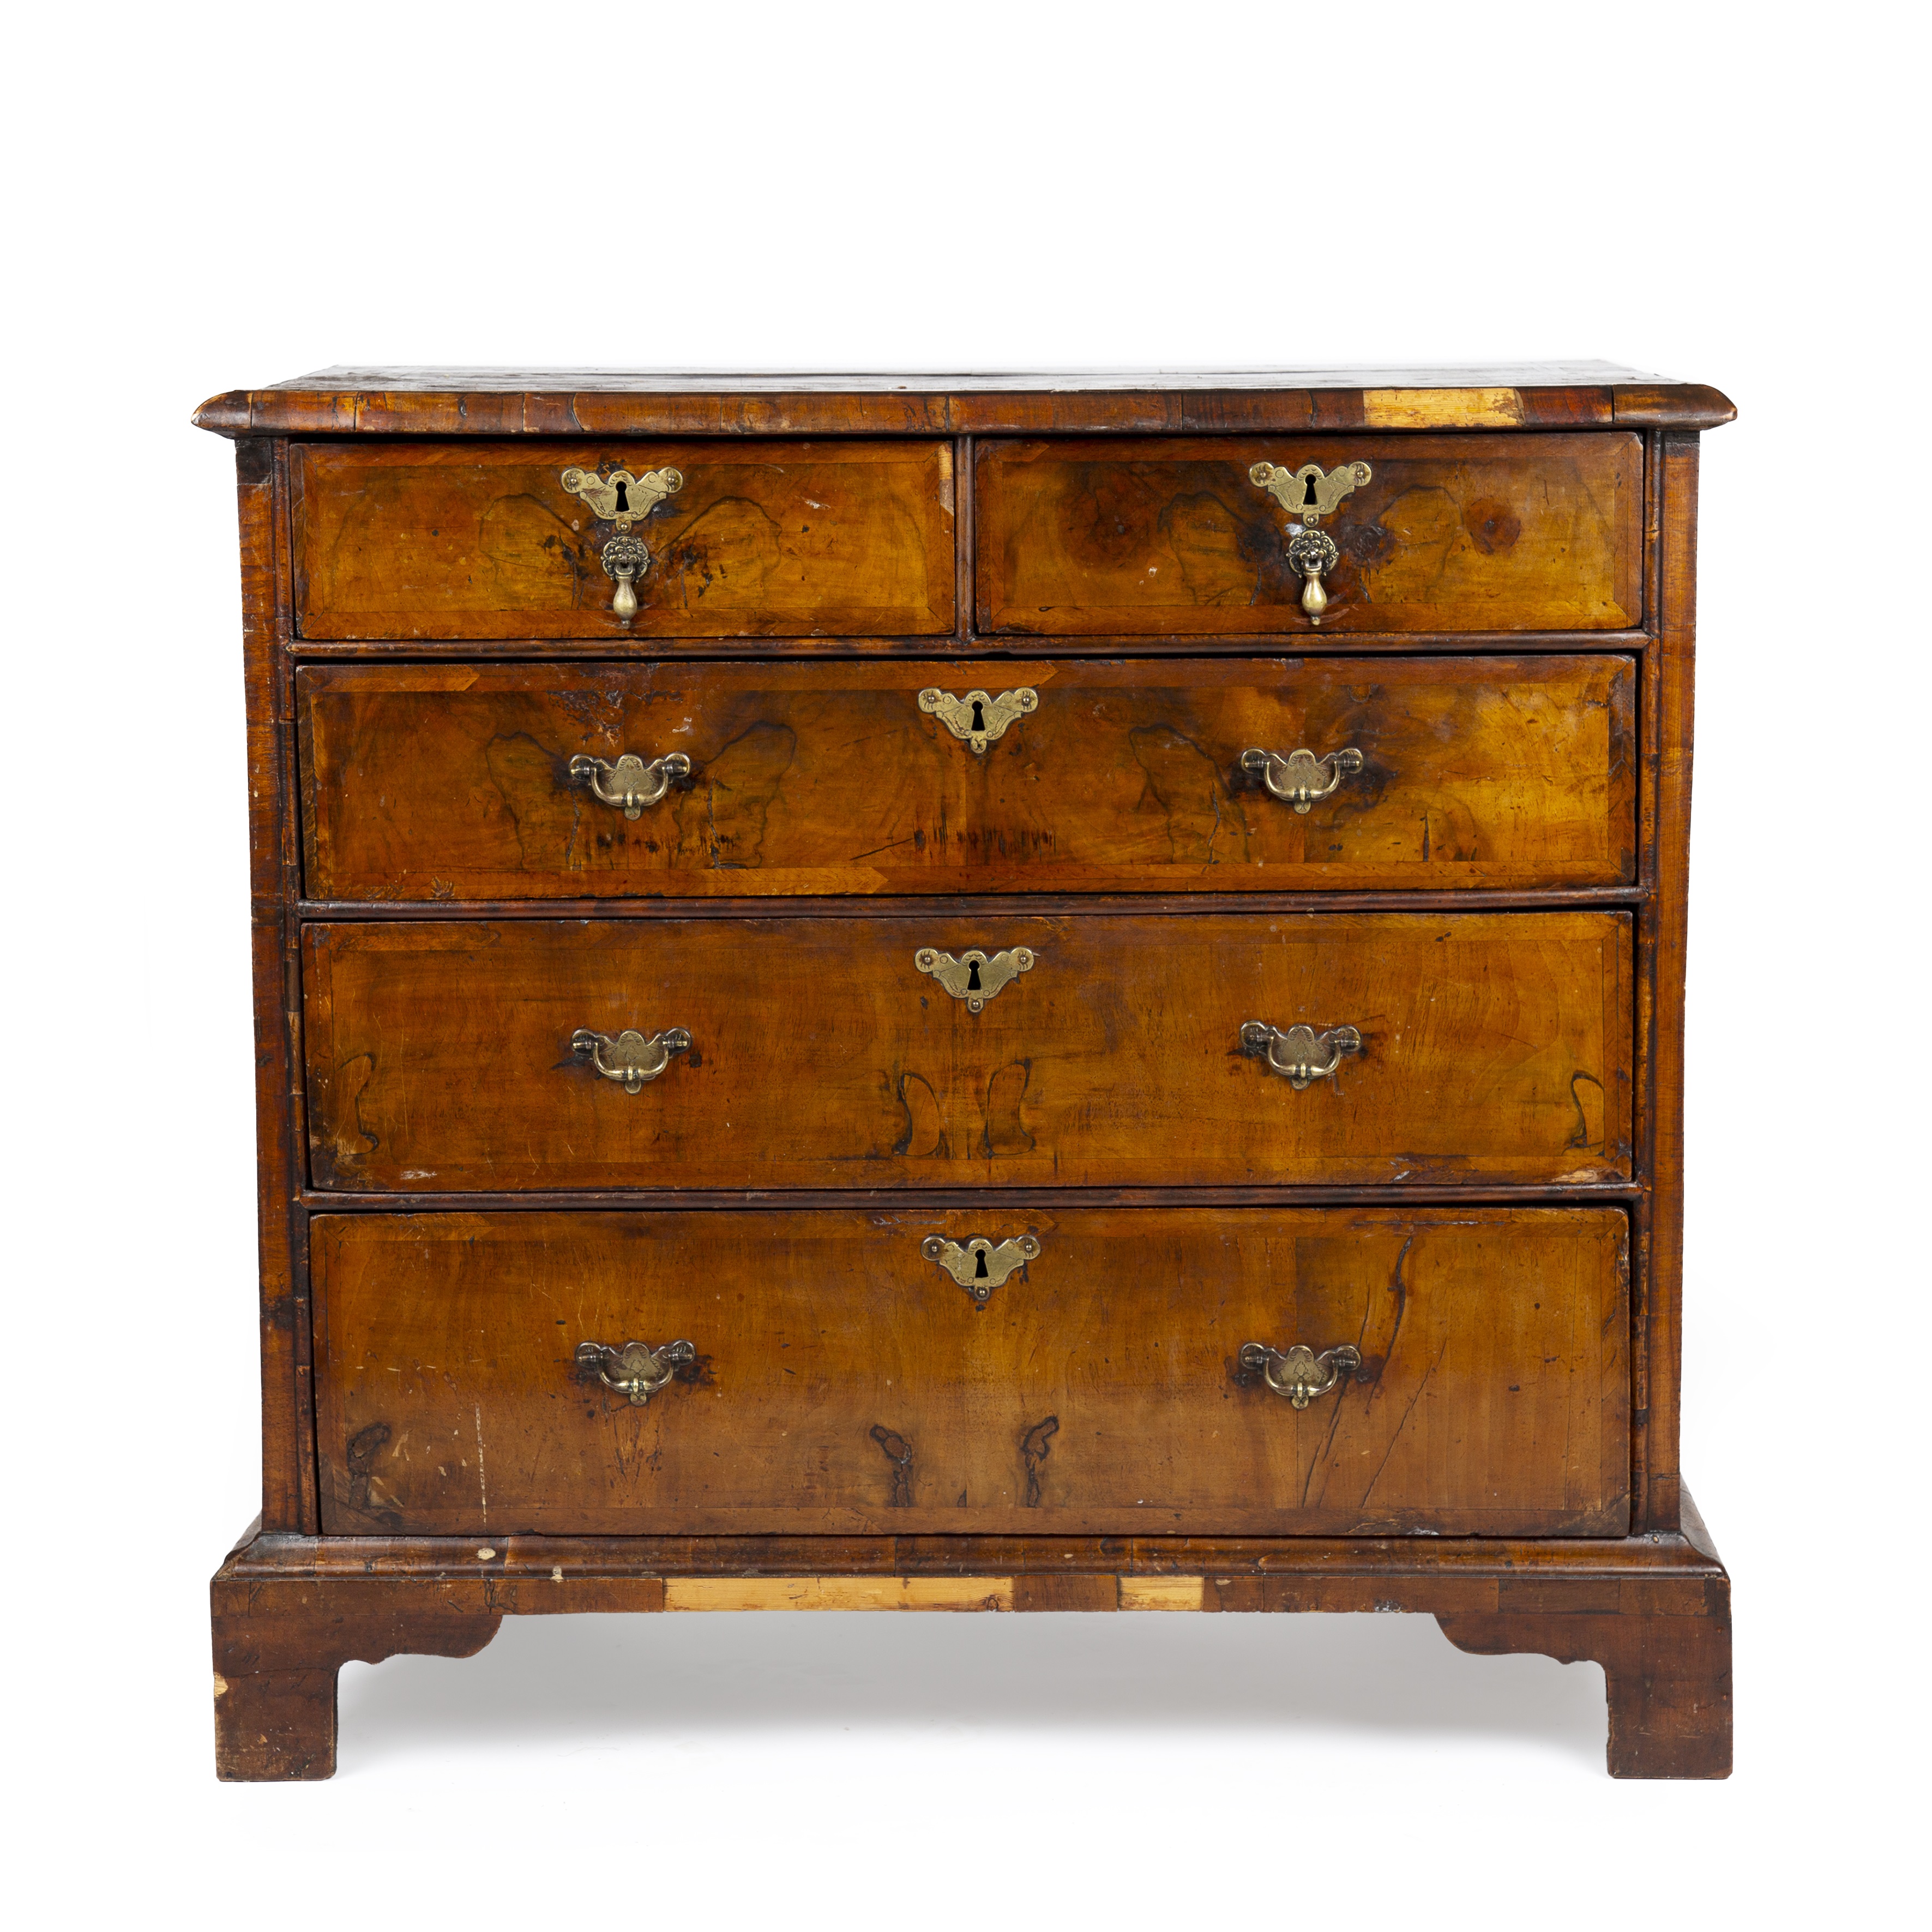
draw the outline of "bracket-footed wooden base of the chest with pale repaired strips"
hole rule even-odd
[[[327,1776],[346,1658],[468,1656],[504,1615],[661,1611],[692,1586],[757,1607],[829,1607],[856,1584],[866,1607],[891,1609],[925,1607],[931,1592],[949,1600],[935,1607],[989,1611],[1434,1613],[1466,1650],[1602,1662],[1613,1776],[1718,1777],[1729,1766],[1731,1580],[1689,1497],[1685,1526],[1692,1536],[1538,1542],[263,1534],[209,1590],[216,1762],[222,1777]]]

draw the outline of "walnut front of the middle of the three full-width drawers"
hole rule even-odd
[[[332,1188],[1631,1171],[1621,912],[338,923],[307,927],[305,991]]]

